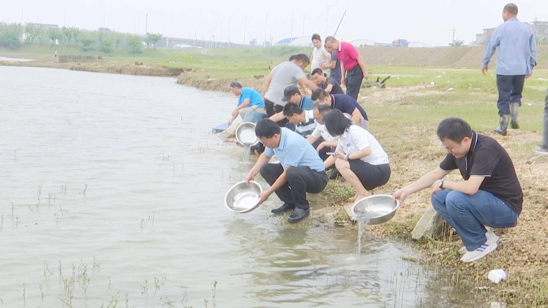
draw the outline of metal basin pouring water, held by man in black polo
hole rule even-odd
[[[392,219],[399,204],[399,200],[393,202],[390,195],[373,195],[356,201],[352,213],[358,218],[369,219],[368,225],[379,225]]]

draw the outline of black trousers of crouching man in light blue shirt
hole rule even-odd
[[[270,185],[283,173],[282,164],[266,163],[261,167],[261,175]],[[295,207],[308,209],[306,193],[319,193],[326,188],[326,172],[317,172],[309,167],[291,167],[286,173],[287,181],[279,187],[276,195],[280,200]]]

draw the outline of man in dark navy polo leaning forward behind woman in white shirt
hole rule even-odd
[[[366,111],[363,110],[362,106],[352,96],[346,94],[329,94],[322,89],[316,89],[312,91],[312,100],[314,104],[324,102],[331,106],[331,109],[338,109],[343,113],[348,113],[352,116],[352,122],[363,129],[368,129],[369,127],[369,119],[367,118]]]

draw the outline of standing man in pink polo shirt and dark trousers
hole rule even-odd
[[[334,37],[326,37],[326,46],[335,50],[341,65],[341,85],[346,84],[346,95],[358,100],[359,88],[362,87],[362,79],[369,79],[366,64],[352,44],[339,42]],[[345,79],[346,76],[346,79]]]

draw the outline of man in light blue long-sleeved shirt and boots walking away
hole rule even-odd
[[[517,19],[517,5],[506,4],[503,9],[504,24],[493,31],[493,36],[485,48],[482,73],[487,72],[489,60],[498,47],[496,56],[496,87],[499,89],[500,126],[496,133],[506,135],[511,122],[514,129],[520,128],[517,122],[518,109],[521,106],[523,83],[533,74],[536,65],[536,41],[531,27]]]

